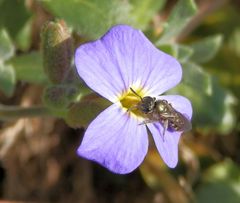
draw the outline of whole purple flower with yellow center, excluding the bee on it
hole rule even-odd
[[[112,27],[101,39],[81,45],[75,54],[80,77],[95,92],[113,104],[88,126],[78,154],[119,174],[136,169],[148,151],[144,117],[127,110],[141,97],[167,100],[178,112],[192,116],[191,103],[179,95],[158,96],[177,85],[182,77],[180,64],[155,48],[140,30],[127,25]],[[171,168],[178,162],[182,132],[166,130],[160,122],[148,123],[163,161]]]

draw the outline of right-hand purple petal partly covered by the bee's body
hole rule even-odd
[[[158,99],[166,99],[180,113],[186,115],[188,119],[192,117],[192,106],[190,101],[182,96],[168,95],[160,96]],[[182,132],[166,130],[164,138],[162,136],[163,126],[160,123],[148,124],[152,133],[156,147],[163,161],[174,168],[178,162],[178,142]]]

